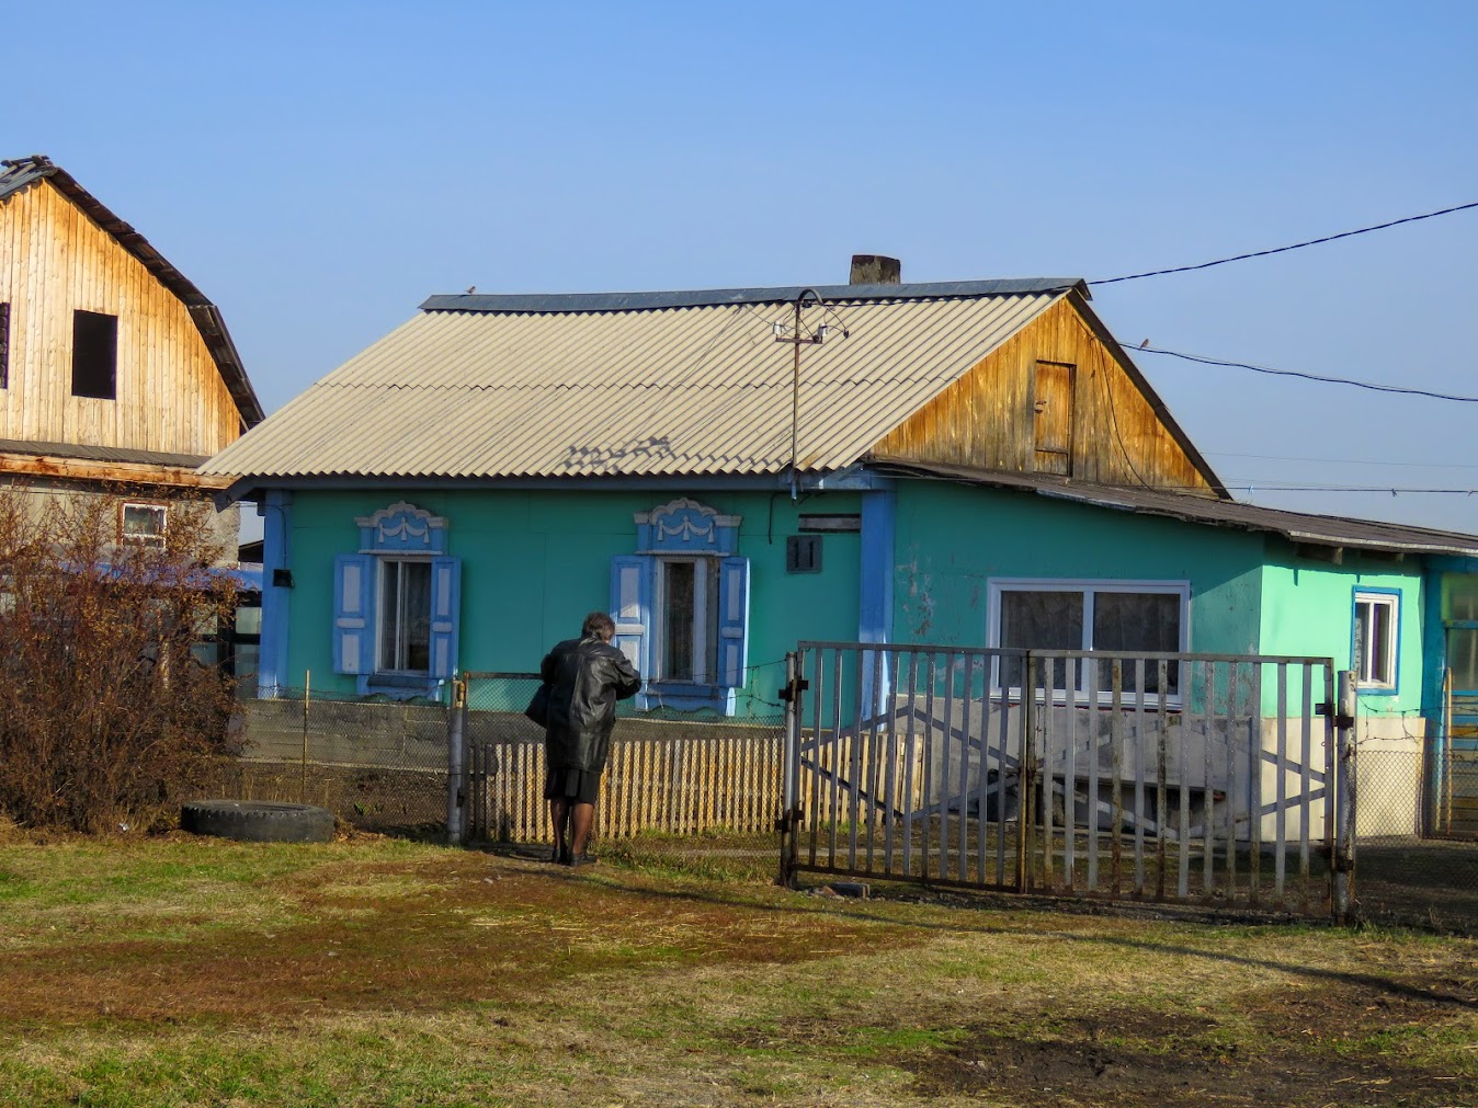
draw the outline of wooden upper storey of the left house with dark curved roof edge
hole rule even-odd
[[[263,418],[220,310],[59,165],[0,165],[0,482],[118,492],[120,539],[167,541]],[[217,526],[234,550],[235,510]]]

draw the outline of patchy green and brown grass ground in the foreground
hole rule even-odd
[[[1478,1102],[1478,944],[0,844],[0,1105]]]

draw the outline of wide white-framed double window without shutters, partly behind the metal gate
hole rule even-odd
[[[1120,665],[1120,693],[1157,696],[1159,663],[1145,660],[1142,681],[1137,657],[1184,653],[1190,649],[1188,581],[1088,581],[1061,578],[992,578],[989,584],[989,626],[986,641],[993,647],[1036,650],[1100,650],[1125,659]],[[1027,678],[1018,659],[1002,659],[995,666],[993,691],[1020,696]],[[1055,659],[1041,666],[1030,684],[1045,693],[1049,685],[1060,696],[1100,699],[1111,696],[1113,660],[1088,662]],[[1166,665],[1165,694],[1179,697],[1181,674],[1175,662]]]

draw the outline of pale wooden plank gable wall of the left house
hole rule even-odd
[[[0,201],[0,439],[213,455],[241,415],[185,304],[49,182]],[[71,394],[72,312],[118,316],[117,399]]]

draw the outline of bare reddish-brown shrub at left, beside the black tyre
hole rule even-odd
[[[173,504],[167,545],[139,545],[118,496],[0,489],[0,813],[145,826],[207,780],[232,690],[192,647],[235,607],[210,517]]]

